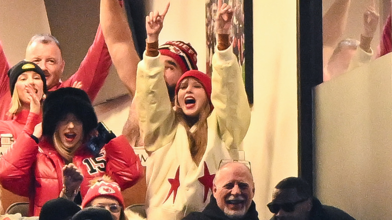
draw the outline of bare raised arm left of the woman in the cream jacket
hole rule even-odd
[[[140,58],[135,49],[125,11],[118,0],[101,0],[100,21],[113,64],[133,97]]]

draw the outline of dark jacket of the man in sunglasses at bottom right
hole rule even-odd
[[[270,220],[274,219],[275,217],[273,216]],[[313,198],[313,207],[309,220],[355,220],[355,218],[339,208],[323,205],[319,199]]]

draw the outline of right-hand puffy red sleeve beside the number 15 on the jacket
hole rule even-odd
[[[143,176],[143,167],[125,136],[111,140],[105,150],[106,174],[120,185],[121,190],[135,185]]]

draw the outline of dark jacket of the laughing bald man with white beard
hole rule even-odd
[[[225,213],[218,207],[217,200],[215,199],[214,196],[211,196],[210,203],[208,203],[208,205],[202,212],[200,211],[190,212],[188,215],[182,218],[182,220],[229,220],[229,219],[232,220],[233,218],[229,218],[228,216],[226,216]],[[245,216],[236,219],[258,220],[259,219],[258,213],[256,211],[256,204],[254,203],[254,201],[252,201]]]

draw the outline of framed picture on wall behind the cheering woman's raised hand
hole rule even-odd
[[[232,6],[233,27],[231,33],[233,52],[242,69],[246,93],[250,104],[253,104],[253,4],[252,0],[223,0]],[[212,56],[215,52],[215,17],[218,0],[206,2],[206,72],[211,76]]]

